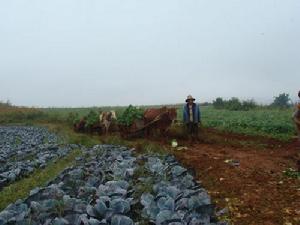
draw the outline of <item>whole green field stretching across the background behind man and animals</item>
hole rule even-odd
[[[151,106],[153,107],[153,106]],[[156,106],[159,107],[159,106]],[[178,121],[182,120],[182,107],[178,108]],[[93,107],[93,108],[0,108],[0,124],[26,122],[29,125],[35,121],[43,122],[67,122],[70,113],[78,113],[79,116],[87,115],[90,110],[96,112],[115,110],[117,115],[123,113],[126,107]],[[142,106],[146,108],[146,106]],[[202,106],[202,124],[207,128],[246,134],[253,136],[265,136],[287,141],[295,135],[295,127],[292,122],[293,109],[272,109],[260,107],[249,111],[229,111],[214,109],[212,106]]]

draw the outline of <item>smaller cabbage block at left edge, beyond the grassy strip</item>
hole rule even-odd
[[[1,126],[0,189],[73,149],[58,143],[59,138],[45,128]]]

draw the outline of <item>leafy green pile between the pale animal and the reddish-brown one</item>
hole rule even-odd
[[[135,120],[142,119],[144,111],[129,105],[122,115],[118,117],[118,124],[130,126]]]

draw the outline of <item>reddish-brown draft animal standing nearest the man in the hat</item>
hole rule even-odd
[[[176,108],[147,109],[144,113],[146,135],[150,135],[154,130],[159,130],[160,134],[165,136],[176,117]]]

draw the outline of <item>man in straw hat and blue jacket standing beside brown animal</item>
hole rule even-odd
[[[183,107],[183,122],[192,139],[198,138],[198,125],[201,123],[200,107],[195,103],[195,100],[193,96],[189,95]]]

